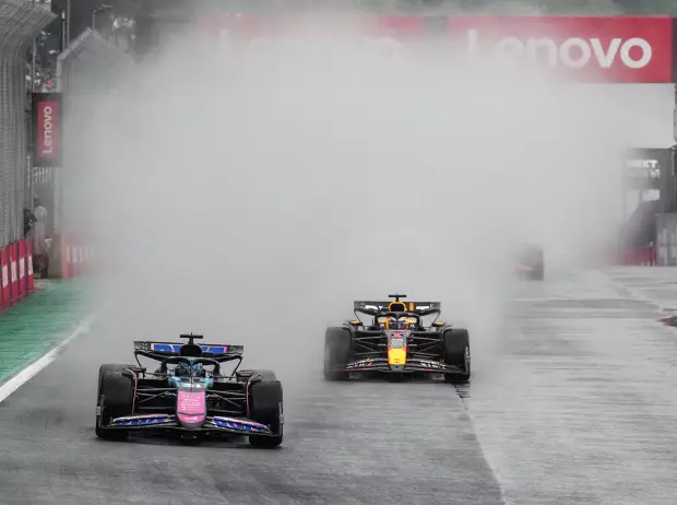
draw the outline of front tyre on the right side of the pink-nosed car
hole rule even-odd
[[[274,436],[249,436],[253,447],[277,447],[282,444],[284,416],[282,383],[270,371],[252,371],[253,384],[249,390],[249,415],[252,421],[268,424]],[[264,378],[268,376],[269,378]]]

